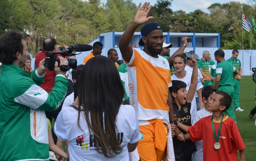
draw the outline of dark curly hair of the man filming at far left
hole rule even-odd
[[[0,38],[0,62],[13,64],[13,61],[17,59],[16,53],[23,52],[22,40],[24,39],[24,35],[16,31],[8,31],[4,34]]]

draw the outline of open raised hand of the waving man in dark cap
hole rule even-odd
[[[152,6],[150,5],[149,2],[148,3],[145,2],[141,8],[141,3],[140,3],[138,6],[138,11],[134,17],[134,23],[141,25],[147,22],[148,20],[153,19],[154,18],[153,16],[147,17],[148,13],[151,10],[151,7]]]

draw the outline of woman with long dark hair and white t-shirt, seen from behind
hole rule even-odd
[[[89,59],[77,83],[78,105],[65,107],[54,129],[69,141],[70,160],[129,160],[140,130],[134,108],[121,105],[124,89],[114,62],[105,56]]]

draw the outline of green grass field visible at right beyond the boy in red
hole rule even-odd
[[[242,76],[240,89],[240,107],[244,112],[235,112],[238,127],[246,146],[245,157],[247,161],[256,160],[256,126],[255,119],[249,118],[249,113],[255,107],[255,88],[256,84],[252,81],[252,76]],[[65,145],[63,143],[63,149]],[[240,158],[238,152],[238,158]]]

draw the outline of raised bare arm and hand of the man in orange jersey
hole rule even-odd
[[[134,32],[141,24],[144,24],[148,20],[154,18],[152,16],[147,17],[151,7],[152,6],[150,5],[149,2],[148,3],[145,2],[142,8],[141,8],[141,3],[139,4],[138,11],[134,17],[132,24],[128,27],[127,30],[125,30],[124,34],[122,35],[119,41],[119,49],[121,51],[122,58],[127,62],[131,60],[132,53],[133,53],[133,49],[129,44],[132,40]]]

